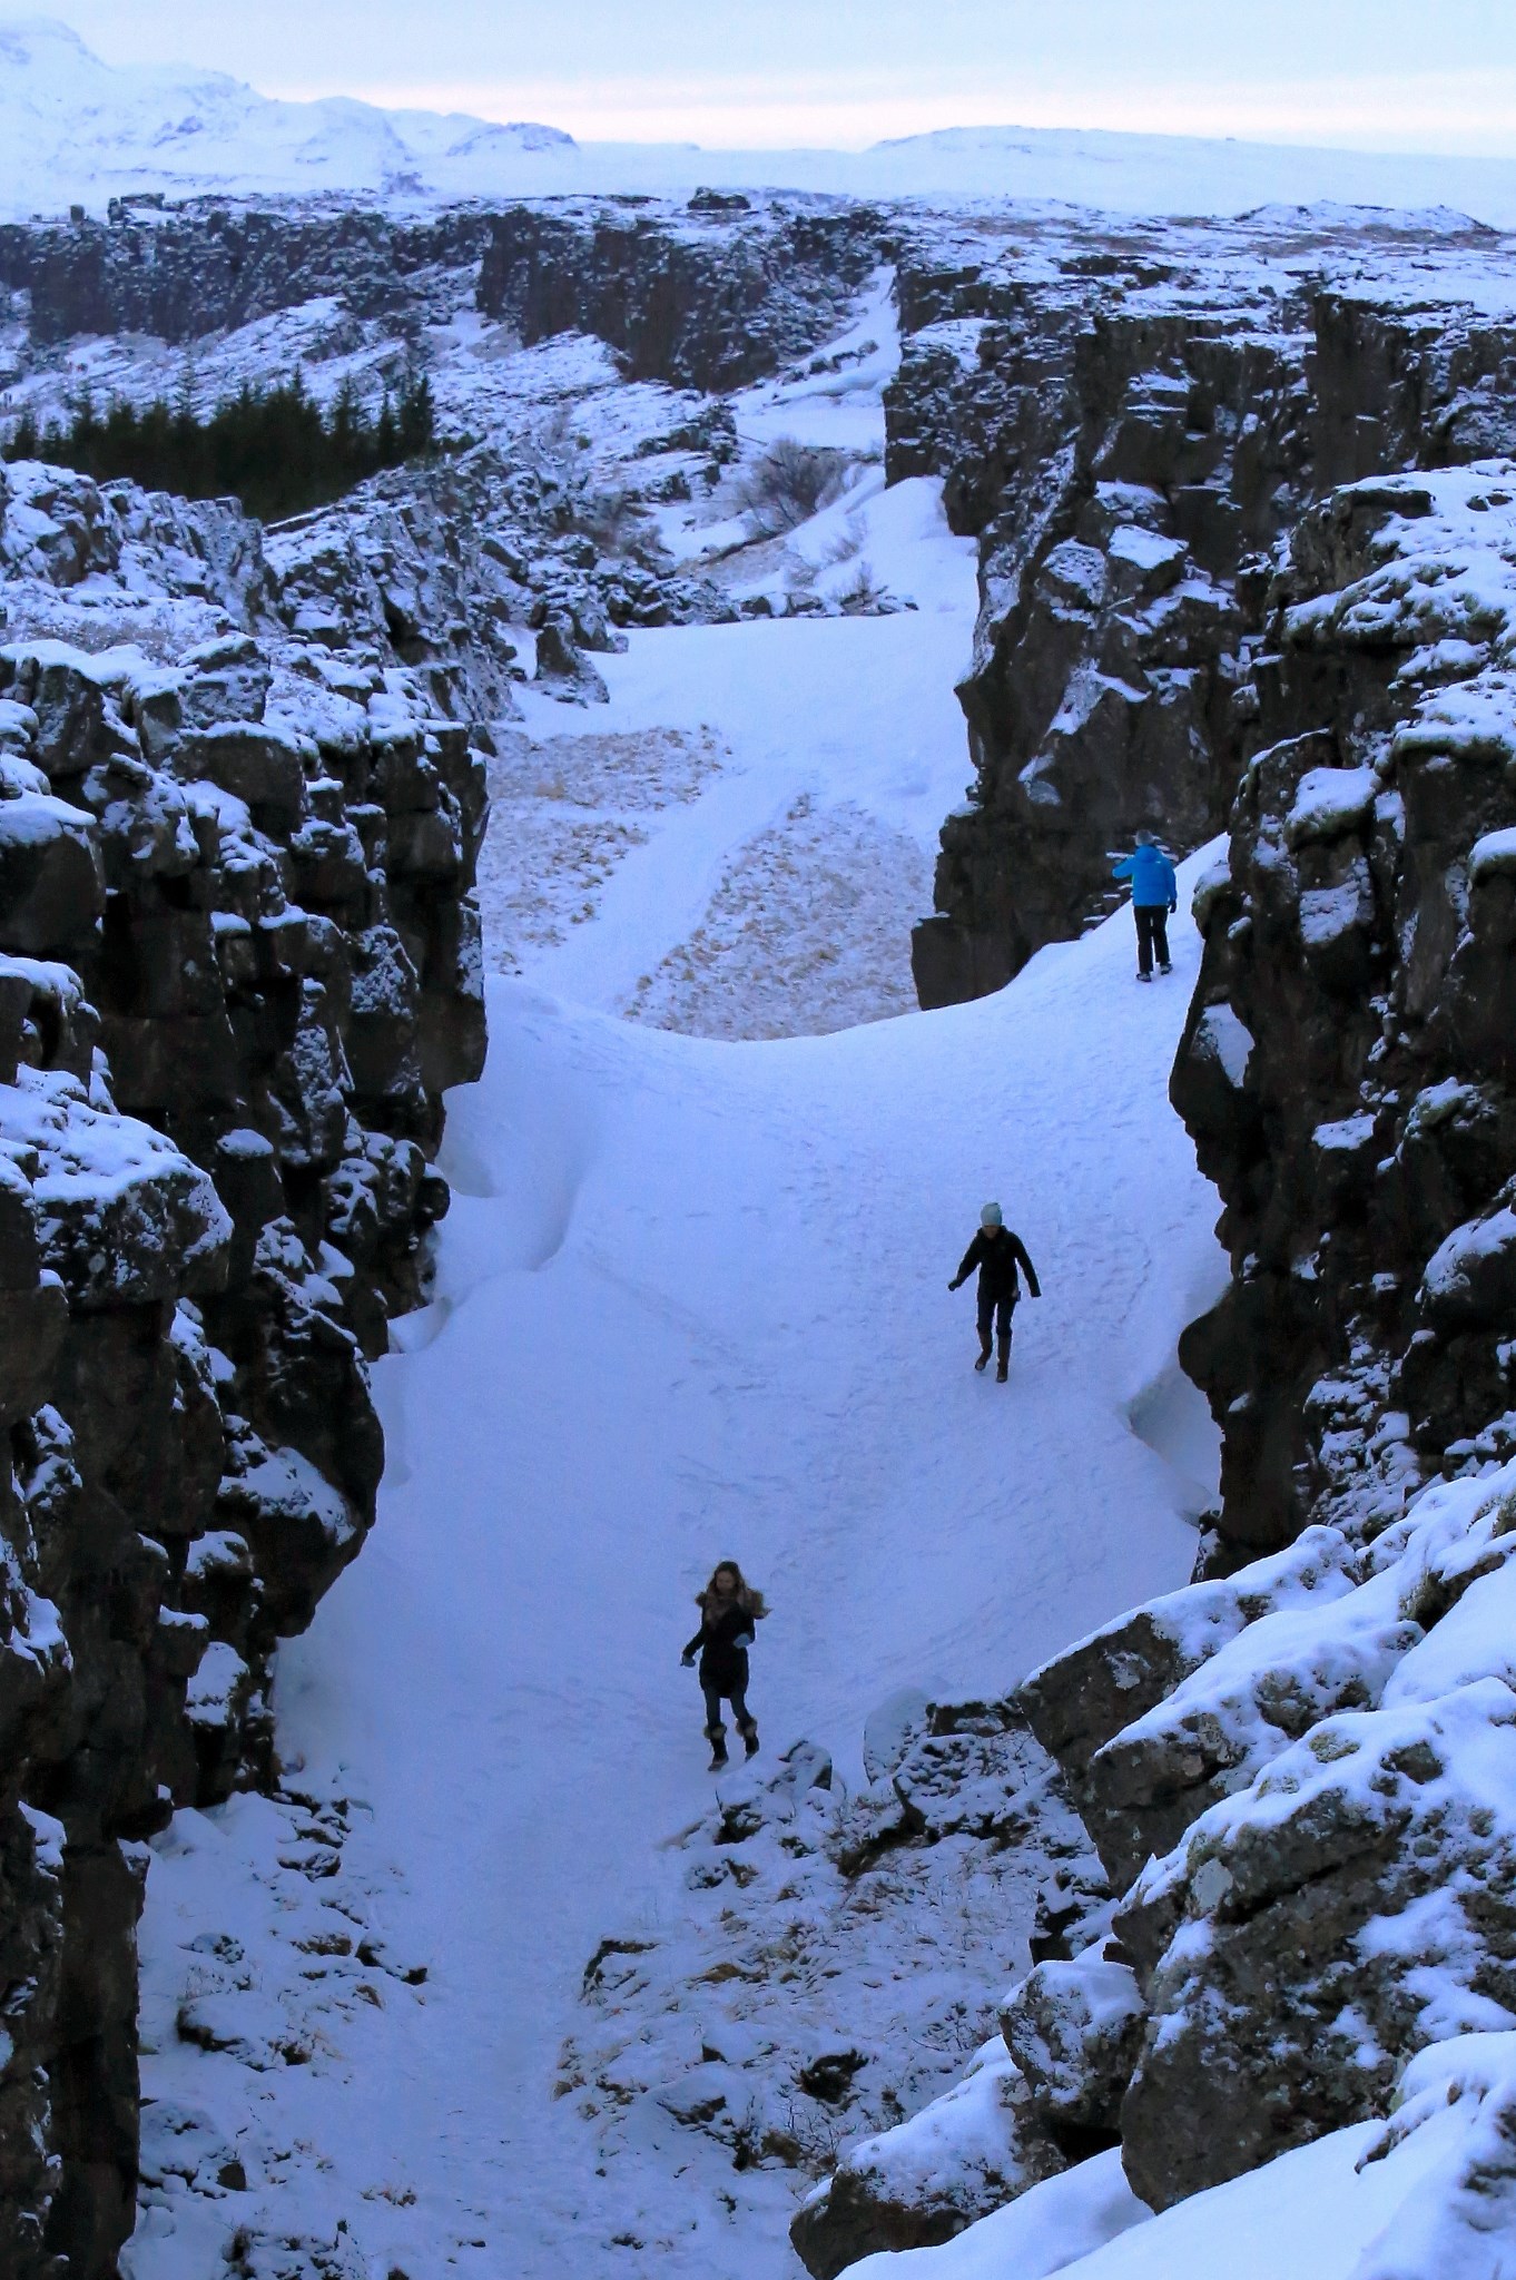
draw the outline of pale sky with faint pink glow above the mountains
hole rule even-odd
[[[16,5],[16,0],[11,0]],[[34,0],[36,5],[36,0]],[[41,0],[107,62],[581,139],[1085,125],[1516,155],[1516,0]]]

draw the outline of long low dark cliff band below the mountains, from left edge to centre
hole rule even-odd
[[[887,226],[841,198],[538,198],[397,219],[349,201],[128,203],[109,221],[0,226],[0,287],[36,347],[144,333],[194,344],[333,296],[419,337],[479,269],[479,308],[524,344],[593,333],[629,378],[720,392],[837,328]]]

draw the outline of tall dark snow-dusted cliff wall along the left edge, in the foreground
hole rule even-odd
[[[226,506],[7,470],[0,595],[0,2264],[96,2280],[144,1840],[271,1772],[269,1655],[374,1518],[483,766],[458,675],[294,638]]]

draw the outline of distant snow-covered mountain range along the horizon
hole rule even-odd
[[[0,16],[0,217],[103,210],[130,192],[502,198],[554,192],[830,192],[1014,198],[1126,214],[1397,207],[1516,228],[1516,162],[1309,150],[1085,128],[948,128],[871,150],[577,144],[552,125],[278,103],[219,71],[103,64],[48,16]],[[1443,223],[1445,228],[1445,223]]]

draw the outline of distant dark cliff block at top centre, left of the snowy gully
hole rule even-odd
[[[479,306],[529,347],[595,333],[634,381],[720,392],[837,328],[878,267],[885,221],[841,201],[670,214],[650,201],[513,205],[490,219]]]

